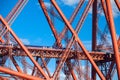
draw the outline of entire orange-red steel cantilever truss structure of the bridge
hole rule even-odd
[[[6,19],[0,16],[1,80],[58,80],[61,74],[64,74],[64,79],[66,80],[96,80],[98,77],[101,80],[112,80],[113,76],[120,80],[120,41],[116,37],[117,33],[110,0],[80,0],[70,20],[65,17],[61,8],[58,6],[59,1],[50,0],[51,9],[46,7],[43,0],[38,0],[38,2],[49,23],[56,42],[53,44],[53,47],[41,47],[24,45],[20,41],[18,36],[10,28],[12,22],[27,3],[27,0],[18,0],[18,3]],[[114,2],[118,10],[120,10],[119,1],[114,0]],[[87,3],[86,6],[83,6],[85,3]],[[78,23],[76,22],[77,26],[74,29],[72,22],[75,20],[82,6],[84,7],[84,11],[81,12],[81,17]],[[91,7],[92,50],[88,51],[80,40],[78,33]],[[102,39],[101,43],[98,43],[97,36],[100,28],[98,24],[99,7],[103,11],[102,13],[106,19],[107,29],[111,35],[111,46],[107,46],[106,35],[104,33],[100,36]],[[59,18],[64,23],[64,29],[60,34],[56,30],[56,26],[53,24],[54,22],[50,15]],[[71,34],[71,37],[68,37],[68,32]],[[62,41],[66,42],[65,47],[63,47]],[[5,65],[8,64],[8,59],[11,60],[14,68]],[[29,64],[28,59],[30,59],[33,64]],[[55,60],[50,63],[51,59]],[[82,65],[80,62],[85,64]],[[52,65],[53,63],[56,64],[56,68],[55,71],[51,73],[48,64]],[[81,68],[82,66],[85,66],[86,69]],[[29,68],[30,73],[27,73],[27,68]],[[115,73],[117,73],[117,75],[114,75]]]

